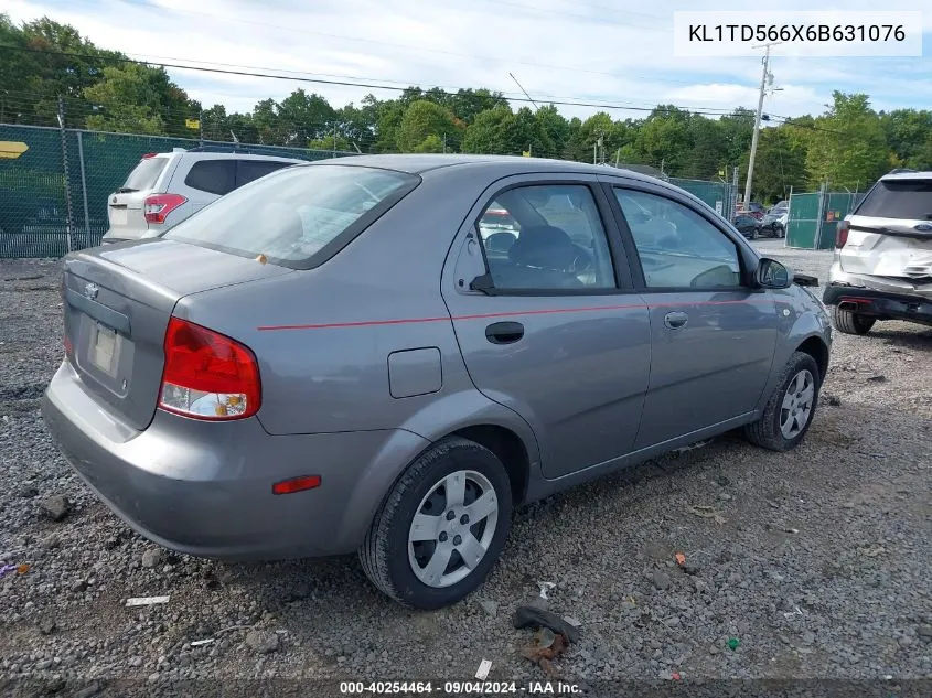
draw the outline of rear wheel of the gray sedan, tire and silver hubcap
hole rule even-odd
[[[408,466],[376,513],[360,561],[383,593],[416,609],[479,587],[511,528],[508,474],[489,449],[450,437]]]

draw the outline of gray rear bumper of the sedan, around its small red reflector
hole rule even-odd
[[[67,362],[42,414],[66,460],[137,533],[229,560],[352,552],[384,495],[360,492],[367,469],[425,445],[404,431],[272,437],[255,418],[208,423],[161,411],[136,431],[84,391]],[[321,475],[320,487],[271,492],[275,482],[311,474]]]

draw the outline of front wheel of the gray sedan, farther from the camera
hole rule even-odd
[[[815,417],[822,376],[805,352],[793,352],[761,418],[744,427],[748,440],[771,451],[796,448]]]

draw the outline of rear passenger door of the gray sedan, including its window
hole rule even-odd
[[[647,311],[608,204],[592,176],[506,178],[441,281],[469,375],[531,425],[549,479],[629,453],[647,388]]]

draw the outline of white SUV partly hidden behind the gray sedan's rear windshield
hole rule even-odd
[[[109,196],[110,228],[103,241],[154,237],[224,194],[300,162],[304,161],[182,148],[146,154]]]

